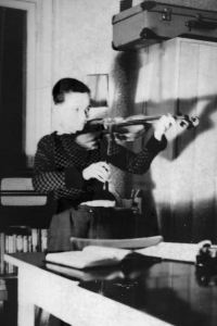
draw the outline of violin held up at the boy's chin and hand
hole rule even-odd
[[[119,141],[135,141],[143,137],[150,129],[151,125],[159,120],[161,116],[143,116],[133,115],[126,118],[107,117],[95,118],[88,122],[88,127],[104,126],[101,130],[104,135],[108,135],[108,139]],[[189,115],[175,115],[174,118],[180,126],[186,126],[188,129],[199,125],[199,118]],[[91,131],[90,131],[91,133]]]

